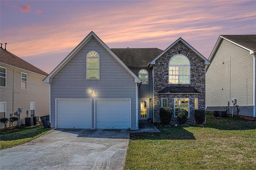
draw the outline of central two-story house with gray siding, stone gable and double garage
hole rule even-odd
[[[188,110],[194,123],[194,109],[205,109],[208,64],[182,38],[165,51],[110,49],[91,32],[44,79],[51,126],[138,129],[139,121],[159,122],[166,106]]]

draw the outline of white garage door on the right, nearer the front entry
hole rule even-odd
[[[96,128],[130,128],[130,100],[96,100]]]

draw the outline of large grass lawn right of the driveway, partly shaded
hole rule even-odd
[[[256,169],[256,121],[207,114],[205,127],[130,133],[124,169]]]

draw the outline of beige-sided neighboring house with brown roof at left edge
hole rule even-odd
[[[47,75],[0,47],[0,117],[14,117],[19,107],[23,108],[21,124],[25,124],[27,112],[28,117],[49,115],[49,85],[43,83]]]

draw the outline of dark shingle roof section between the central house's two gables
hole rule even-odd
[[[147,66],[163,50],[158,48],[112,48],[127,66]]]

